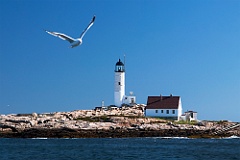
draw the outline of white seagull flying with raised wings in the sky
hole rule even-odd
[[[56,37],[59,37],[61,38],[62,40],[66,40],[68,42],[71,43],[71,48],[73,47],[77,47],[78,45],[81,45],[82,44],[82,39],[84,37],[84,35],[86,34],[86,32],[91,28],[91,26],[93,25],[94,23],[94,20],[95,20],[95,15],[93,16],[91,22],[89,23],[89,25],[87,26],[87,28],[82,32],[82,34],[80,35],[79,38],[72,38],[66,34],[63,34],[63,33],[58,33],[58,32],[50,32],[50,31],[47,31],[45,30],[48,34],[51,34],[53,36],[56,36]]]

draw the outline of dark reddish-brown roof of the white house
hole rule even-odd
[[[148,96],[146,109],[178,109],[180,96]]]

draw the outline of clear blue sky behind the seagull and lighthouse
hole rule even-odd
[[[83,44],[77,37],[96,21]],[[240,1],[0,1],[0,114],[113,104],[126,55],[126,93],[179,95],[199,119],[240,121]]]

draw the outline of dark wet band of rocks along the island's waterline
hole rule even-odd
[[[162,129],[162,130],[81,130],[81,129],[42,129],[31,128],[21,132],[0,132],[2,138],[129,138],[129,137],[188,137],[188,138],[222,138],[235,134],[223,133],[212,135],[211,131],[194,129]],[[238,135],[239,136],[239,135]]]

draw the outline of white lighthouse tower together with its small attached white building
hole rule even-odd
[[[125,95],[125,66],[119,59],[115,65],[115,81],[114,81],[114,105],[121,107],[122,104],[135,104],[136,97]]]

